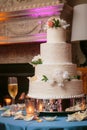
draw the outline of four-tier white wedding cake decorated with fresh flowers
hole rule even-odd
[[[76,98],[83,95],[82,80],[72,63],[71,44],[66,43],[66,21],[47,21],[47,42],[32,59],[35,75],[30,77],[29,97],[37,99]]]

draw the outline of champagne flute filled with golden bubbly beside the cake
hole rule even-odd
[[[18,93],[18,83],[16,77],[8,78],[8,92],[12,97],[12,104],[15,104],[15,97]]]

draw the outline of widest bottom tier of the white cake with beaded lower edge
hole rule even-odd
[[[51,86],[49,82],[31,81],[29,86],[29,97],[37,99],[65,99],[83,96],[82,80],[73,79],[65,81],[64,86]]]

